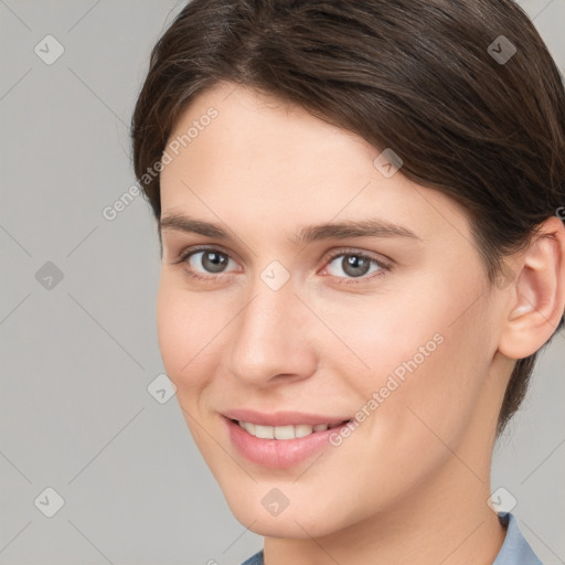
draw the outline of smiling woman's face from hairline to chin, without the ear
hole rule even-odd
[[[380,152],[224,84],[194,99],[163,157],[159,347],[227,503],[262,535],[326,535],[488,476],[510,369],[493,369],[500,294],[462,209],[386,156],[375,166]],[[370,221],[362,236],[317,227]],[[225,416],[241,409],[353,423],[257,439]],[[303,415],[268,419],[286,412]]]

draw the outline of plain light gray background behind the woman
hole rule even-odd
[[[231,514],[175,398],[147,390],[164,372],[149,205],[138,196],[114,221],[102,213],[135,181],[132,106],[183,4],[0,0],[1,564],[239,564],[262,546]],[[565,0],[522,4],[565,73]],[[34,52],[47,34],[65,50],[51,65]],[[47,262],[63,275],[51,288]],[[546,565],[565,563],[564,366],[562,332],[492,477]],[[52,518],[47,487],[64,499]]]

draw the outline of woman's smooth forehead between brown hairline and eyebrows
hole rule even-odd
[[[214,223],[287,226],[289,236],[297,225],[380,216],[425,237],[431,228],[452,230],[447,206],[466,230],[455,201],[415,185],[402,169],[384,177],[374,164],[381,151],[355,134],[243,86],[223,83],[195,97],[168,151],[163,215],[190,211]]]

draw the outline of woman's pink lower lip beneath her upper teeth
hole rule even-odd
[[[292,467],[316,454],[320,449],[331,445],[332,434],[339,434],[347,426],[335,426],[324,431],[315,431],[309,436],[295,439],[262,439],[253,436],[236,422],[223,416],[227,423],[230,438],[236,449],[249,461],[269,467],[271,469],[285,469]]]

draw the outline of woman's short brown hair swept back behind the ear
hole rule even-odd
[[[512,0],[192,0],[154,45],[131,120],[158,221],[159,175],[147,173],[186,105],[221,81],[392,148],[408,179],[468,211],[491,284],[565,205],[563,76]],[[497,434],[536,354],[516,361]]]

